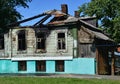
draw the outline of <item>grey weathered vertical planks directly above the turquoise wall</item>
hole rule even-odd
[[[94,44],[79,44],[79,57],[95,57]]]

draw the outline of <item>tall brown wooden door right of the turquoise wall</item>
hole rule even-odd
[[[99,47],[97,48],[97,74],[108,75],[111,72],[108,58],[108,49]]]

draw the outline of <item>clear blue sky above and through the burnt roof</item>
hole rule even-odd
[[[45,11],[49,11],[53,9],[61,10],[61,4],[67,4],[68,13],[73,16],[74,11],[78,10],[79,6],[89,1],[90,0],[32,0],[31,3],[28,3],[29,8],[18,7],[17,10],[23,16],[22,17],[22,20],[23,20],[35,15],[41,14]],[[22,25],[24,26],[31,25],[36,21],[37,20],[29,21]]]

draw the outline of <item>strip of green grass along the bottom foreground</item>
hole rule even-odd
[[[43,77],[0,77],[0,84],[120,84],[120,80]]]

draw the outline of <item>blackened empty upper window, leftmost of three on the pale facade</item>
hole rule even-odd
[[[18,50],[26,50],[25,30],[18,33]]]

